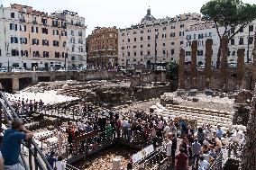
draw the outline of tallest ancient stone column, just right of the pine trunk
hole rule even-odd
[[[222,59],[220,68],[220,88],[223,90],[227,87],[227,56],[228,56],[228,37],[223,37],[222,43]]]

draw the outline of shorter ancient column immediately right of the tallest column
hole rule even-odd
[[[236,73],[236,83],[239,89],[242,89],[242,79],[243,79],[243,65],[244,65],[244,55],[245,49],[237,50],[237,73]]]

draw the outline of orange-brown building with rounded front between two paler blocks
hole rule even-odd
[[[118,30],[116,27],[96,27],[88,38],[88,64],[94,67],[114,67],[118,62]]]

